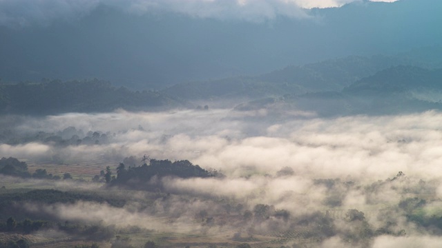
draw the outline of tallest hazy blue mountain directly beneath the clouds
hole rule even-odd
[[[253,21],[166,10],[134,14],[102,3],[77,19],[0,25],[0,77],[98,78],[162,89],[352,54],[396,54],[440,45],[441,10],[439,0],[355,1],[341,8],[305,10],[305,18],[276,15]],[[436,63],[441,58],[434,56]]]

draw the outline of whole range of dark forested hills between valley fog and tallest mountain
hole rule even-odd
[[[348,56],[259,76],[179,83],[133,91],[106,81],[0,84],[0,114],[165,110],[198,105],[236,111],[287,110],[320,116],[442,110],[442,69],[410,56]]]

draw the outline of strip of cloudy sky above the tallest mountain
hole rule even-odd
[[[372,0],[396,1],[396,0]],[[199,18],[262,21],[278,16],[308,18],[308,8],[329,8],[361,0],[0,0],[0,25],[48,25],[55,19],[75,20],[99,4],[126,12],[177,12]]]

